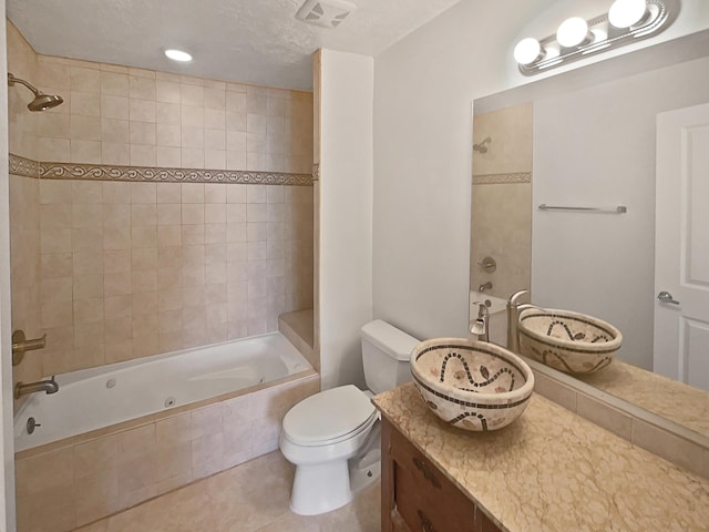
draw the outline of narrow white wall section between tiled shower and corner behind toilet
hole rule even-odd
[[[322,388],[364,385],[359,329],[372,318],[372,58],[322,50]]]

